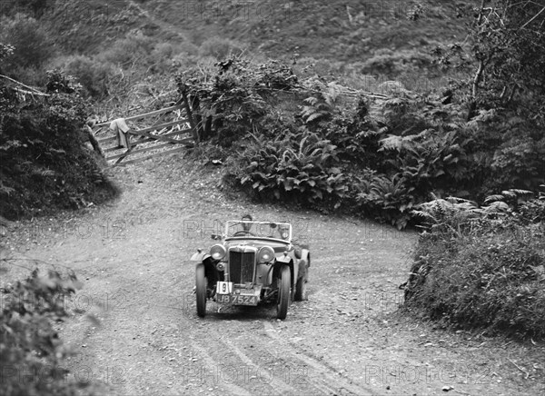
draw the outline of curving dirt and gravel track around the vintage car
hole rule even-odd
[[[215,189],[220,172],[172,158],[117,168],[124,193],[115,203],[19,227],[15,254],[69,266],[84,281],[59,328],[75,352],[74,379],[119,395],[542,391],[539,369],[525,366],[524,379],[507,360],[522,361],[520,347],[396,312],[415,233],[227,199]],[[211,303],[196,316],[188,258],[243,213],[290,220],[311,244],[309,300],[292,302],[284,322],[272,307]]]

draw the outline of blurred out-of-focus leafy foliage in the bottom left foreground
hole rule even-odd
[[[66,380],[64,347],[53,324],[68,315],[65,304],[80,288],[74,273],[63,276],[34,270],[23,282],[6,287],[0,312],[2,389],[5,394],[70,395],[76,384]]]

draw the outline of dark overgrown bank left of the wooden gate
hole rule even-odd
[[[48,95],[0,80],[0,215],[14,220],[101,203],[116,189],[85,145],[88,109],[63,74]]]

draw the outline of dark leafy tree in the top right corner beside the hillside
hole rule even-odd
[[[481,0],[470,34],[470,118],[480,105],[516,107],[544,124],[544,34],[545,0]]]

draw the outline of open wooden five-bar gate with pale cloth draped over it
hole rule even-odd
[[[189,120],[183,118],[183,110],[183,104],[175,104],[150,113],[110,120],[95,124],[93,133],[104,158],[114,166],[177,153],[193,146],[193,128]],[[154,153],[143,155],[151,152]],[[127,157],[131,159],[125,160]]]

